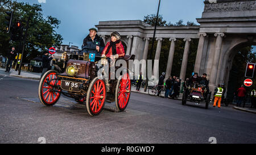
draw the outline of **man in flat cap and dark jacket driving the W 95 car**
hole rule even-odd
[[[101,56],[101,52],[105,48],[104,40],[97,35],[96,28],[89,29],[89,35],[85,37],[82,44],[82,53],[95,53],[96,56]],[[96,50],[90,50],[86,48],[92,48]]]

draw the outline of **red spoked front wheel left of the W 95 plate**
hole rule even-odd
[[[56,74],[56,70],[49,70],[40,79],[38,96],[41,103],[46,106],[54,105],[60,98],[60,93],[56,92],[60,90],[58,90],[57,87],[52,87],[53,85],[60,86],[60,80],[57,79]],[[47,82],[52,86],[48,85]]]

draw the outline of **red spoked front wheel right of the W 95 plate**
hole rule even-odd
[[[86,109],[91,116],[101,113],[106,100],[106,85],[101,77],[96,77],[90,82],[86,95]]]

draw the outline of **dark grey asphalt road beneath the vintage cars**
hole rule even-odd
[[[132,93],[125,112],[103,110],[91,117],[83,104],[64,97],[43,106],[38,85],[0,71],[0,143],[39,143],[39,137],[46,143],[209,144],[210,137],[217,143],[256,143],[256,115],[232,106],[205,110]]]

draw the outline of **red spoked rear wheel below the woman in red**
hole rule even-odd
[[[131,80],[129,73],[123,74],[115,87],[115,107],[118,111],[123,111],[127,107],[131,94]]]

